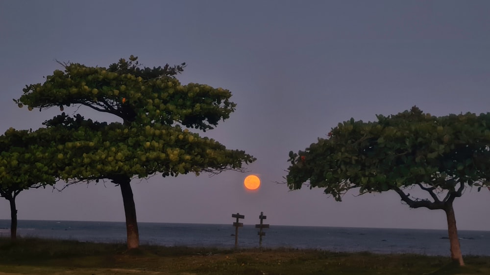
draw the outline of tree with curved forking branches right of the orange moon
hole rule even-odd
[[[490,113],[435,117],[417,107],[376,122],[346,121],[297,154],[290,152],[290,189],[325,188],[337,201],[360,194],[395,191],[411,208],[443,210],[451,259],[464,265],[453,201],[466,187],[487,185],[490,175]],[[409,190],[427,192],[414,198]]]

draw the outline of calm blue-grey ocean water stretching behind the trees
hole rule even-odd
[[[138,223],[140,242],[164,246],[233,248],[231,224]],[[10,236],[10,220],[0,220],[0,235]],[[445,230],[375,229],[341,227],[274,226],[264,230],[263,247],[321,249],[336,252],[415,253],[449,255]],[[258,229],[239,229],[239,246],[259,245]],[[125,242],[124,222],[20,220],[20,236],[73,239],[93,242]],[[463,254],[490,255],[489,231],[459,231]]]

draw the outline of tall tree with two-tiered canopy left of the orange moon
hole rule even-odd
[[[26,85],[14,100],[20,107],[48,108],[83,105],[111,113],[122,123],[99,123],[64,113],[47,121],[48,127],[64,127],[71,142],[59,158],[71,164],[61,173],[76,181],[109,179],[121,187],[126,215],[128,249],[139,247],[136,210],[130,181],[156,172],[177,176],[201,171],[219,173],[241,170],[255,160],[240,150],[229,150],[213,139],[188,128],[212,129],[229,118],[236,104],[231,93],[208,85],[181,85],[174,77],[185,64],[140,68],[137,58],[105,67],[62,63],[43,84]],[[184,127],[184,128],[183,128]],[[88,150],[78,147],[88,146]]]

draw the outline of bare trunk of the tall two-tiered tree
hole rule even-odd
[[[136,208],[134,206],[133,191],[131,190],[131,179],[123,177],[113,180],[119,184],[123,194],[124,213],[126,214],[127,249],[135,249],[140,246],[140,235],[138,233],[138,223],[136,221]]]

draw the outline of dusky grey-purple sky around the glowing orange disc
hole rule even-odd
[[[443,211],[410,209],[394,191],[336,202],[321,189],[290,191],[288,153],[349,120],[418,106],[432,115],[490,111],[490,1],[0,1],[0,133],[39,128],[58,109],[12,99],[60,65],[187,63],[181,83],[229,89],[237,110],[205,134],[257,158],[245,173],[134,179],[138,221],[445,229]],[[72,109],[73,110],[73,109]],[[117,118],[86,108],[99,121]],[[262,184],[248,192],[243,180]],[[62,187],[62,183],[57,187]],[[415,191],[412,193],[416,193]],[[19,219],[124,221],[119,187],[26,190]],[[490,231],[490,191],[454,203],[459,229]],[[9,219],[0,199],[0,219]]]

